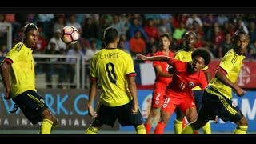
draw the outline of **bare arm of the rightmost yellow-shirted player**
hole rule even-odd
[[[240,86],[234,84],[228,78],[226,78],[226,74],[226,70],[224,70],[222,67],[218,67],[215,77],[218,78],[218,80],[224,85],[230,86],[232,89],[234,89],[238,96],[243,96],[245,94],[245,91],[242,90]]]

